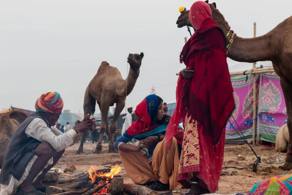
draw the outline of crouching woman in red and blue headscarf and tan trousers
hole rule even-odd
[[[135,184],[147,185],[156,191],[175,190],[179,173],[179,148],[183,140],[183,129],[177,131],[169,151],[166,151],[164,134],[170,117],[164,115],[162,98],[147,96],[137,107],[137,121],[117,139],[126,172]],[[127,144],[132,138],[138,139],[138,146]],[[143,150],[147,148],[148,154]]]

